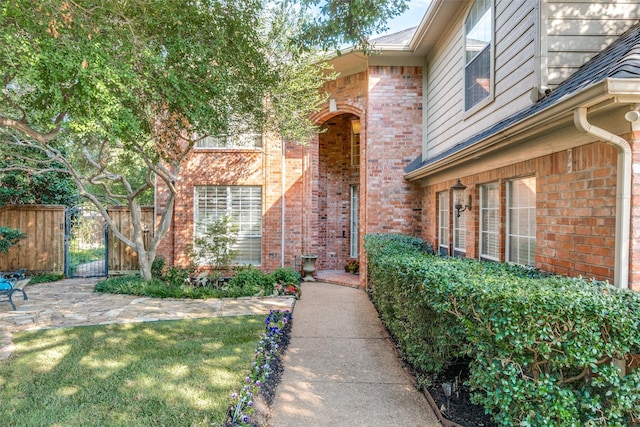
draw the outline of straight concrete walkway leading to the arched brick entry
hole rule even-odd
[[[362,290],[305,282],[269,425],[438,426]]]

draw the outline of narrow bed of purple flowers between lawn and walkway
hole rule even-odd
[[[254,413],[254,395],[259,394],[265,382],[273,374],[275,362],[280,358],[281,341],[291,324],[289,310],[271,310],[265,319],[265,332],[262,335],[255,352],[255,360],[251,373],[245,377],[245,384],[239,393],[231,395],[229,413],[231,424],[248,426],[249,416]]]

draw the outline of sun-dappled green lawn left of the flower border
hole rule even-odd
[[[16,333],[0,424],[219,426],[263,331],[246,316]]]

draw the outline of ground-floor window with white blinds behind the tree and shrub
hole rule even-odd
[[[231,248],[236,252],[233,263],[262,263],[262,187],[195,187],[194,204],[196,234],[207,220],[229,216],[238,230],[238,239]]]

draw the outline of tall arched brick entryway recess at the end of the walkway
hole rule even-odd
[[[360,120],[344,113],[318,136],[318,269],[345,271],[359,258]]]

